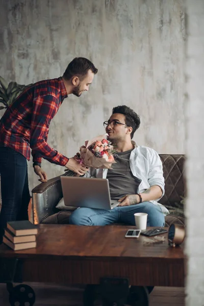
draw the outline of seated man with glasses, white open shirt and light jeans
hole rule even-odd
[[[158,203],[164,195],[163,167],[154,149],[137,146],[132,141],[140,126],[139,116],[127,106],[113,109],[112,116],[104,122],[108,140],[117,150],[112,169],[93,169],[87,177],[109,180],[112,200],[118,200],[118,207],[112,210],[78,208],[70,218],[70,224],[107,225],[125,223],[135,225],[135,213],[147,213],[147,226],[164,226],[168,210]]]

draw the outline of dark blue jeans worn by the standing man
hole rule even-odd
[[[30,192],[27,159],[8,147],[0,146],[2,209],[0,232],[8,221],[28,220]]]

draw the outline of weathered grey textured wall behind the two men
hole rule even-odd
[[[114,106],[141,116],[134,139],[159,153],[184,153],[182,0],[0,0],[0,75],[29,84],[62,75],[75,56],[99,69],[90,92],[69,96],[48,142],[71,157],[104,131]],[[30,186],[37,184],[32,165]],[[53,177],[62,171],[43,162]]]

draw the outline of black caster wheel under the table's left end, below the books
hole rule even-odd
[[[28,285],[17,285],[9,290],[9,302],[11,306],[33,306],[35,292]]]

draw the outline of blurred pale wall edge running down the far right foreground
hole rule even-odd
[[[186,1],[187,179],[186,205],[188,277],[186,305],[204,304],[204,1]]]

